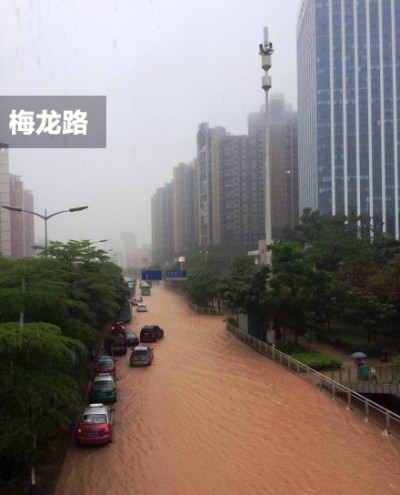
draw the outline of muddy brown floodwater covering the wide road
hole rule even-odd
[[[156,286],[150,367],[118,358],[113,443],[72,442],[55,495],[400,493],[400,442]]]

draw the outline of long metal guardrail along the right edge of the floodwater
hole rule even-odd
[[[279,363],[289,371],[298,374],[300,378],[318,387],[321,391],[331,394],[333,398],[344,402],[346,407],[353,412],[400,439],[399,415],[363,397],[345,385],[332,380],[328,376],[296,361],[287,354],[275,349],[272,345],[252,337],[230,323],[226,324],[226,329],[255,351]]]

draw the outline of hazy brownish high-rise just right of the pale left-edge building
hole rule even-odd
[[[33,194],[24,189],[18,175],[10,174],[10,204],[23,210],[33,211]],[[34,256],[34,217],[30,213],[10,211],[11,257]]]

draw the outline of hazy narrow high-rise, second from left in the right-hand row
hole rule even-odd
[[[192,254],[197,248],[195,198],[195,160],[192,164],[180,163],[173,170],[173,241],[177,256]]]

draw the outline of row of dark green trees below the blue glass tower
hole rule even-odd
[[[265,336],[269,322],[296,331],[316,315],[371,332],[397,336],[400,328],[400,243],[376,234],[361,217],[305,210],[299,225],[286,228],[269,246],[271,263],[246,256],[225,262],[210,247],[187,266],[189,298],[200,306],[223,300],[247,313]],[[226,264],[229,260],[229,274]],[[222,267],[222,269],[221,269]]]

